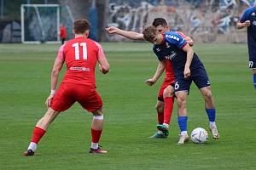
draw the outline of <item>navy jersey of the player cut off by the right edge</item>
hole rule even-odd
[[[241,15],[240,22],[251,21],[247,27],[247,42],[250,57],[256,56],[256,7],[247,8]]]

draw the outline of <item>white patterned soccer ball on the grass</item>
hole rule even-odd
[[[208,133],[204,128],[197,127],[191,133],[191,140],[195,144],[205,143],[208,139]]]

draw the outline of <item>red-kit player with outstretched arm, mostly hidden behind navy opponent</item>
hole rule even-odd
[[[170,27],[167,25],[166,20],[163,18],[154,19],[152,25],[159,33],[170,31]],[[142,33],[137,33],[134,31],[123,31],[114,26],[106,28],[106,31],[108,31],[108,33],[110,34],[119,34],[132,40],[145,40]],[[178,33],[185,37],[190,46],[194,44],[193,40],[190,37],[186,37],[182,32]],[[164,61],[160,61],[158,68],[154,73],[154,77],[145,81],[149,86],[153,86],[154,83],[160,78],[163,71],[166,71],[166,77],[160,87],[158,99],[155,106],[158,118],[158,132],[154,133],[154,135],[151,136],[151,138],[156,139],[167,138],[169,134],[169,124],[172,116],[174,93],[174,73],[170,60],[166,59]]]

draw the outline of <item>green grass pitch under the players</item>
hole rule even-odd
[[[91,116],[76,104],[51,124],[35,156],[21,156],[46,111],[44,100],[59,46],[0,44],[0,169],[255,169],[256,93],[247,69],[246,44],[194,47],[212,82],[218,140],[209,135],[207,144],[177,146],[176,102],[168,139],[149,139],[156,131],[154,105],[163,78],[153,88],[144,83],[158,65],[151,45],[103,43],[111,71],[96,71],[96,84],[105,111],[101,144],[108,154],[88,153]],[[208,131],[204,102],[195,85],[188,112],[189,133],[195,127]]]

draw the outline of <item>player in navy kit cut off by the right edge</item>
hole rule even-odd
[[[256,5],[247,8],[237,23],[237,28],[247,27],[249,68],[253,69],[253,85],[256,90]]]

